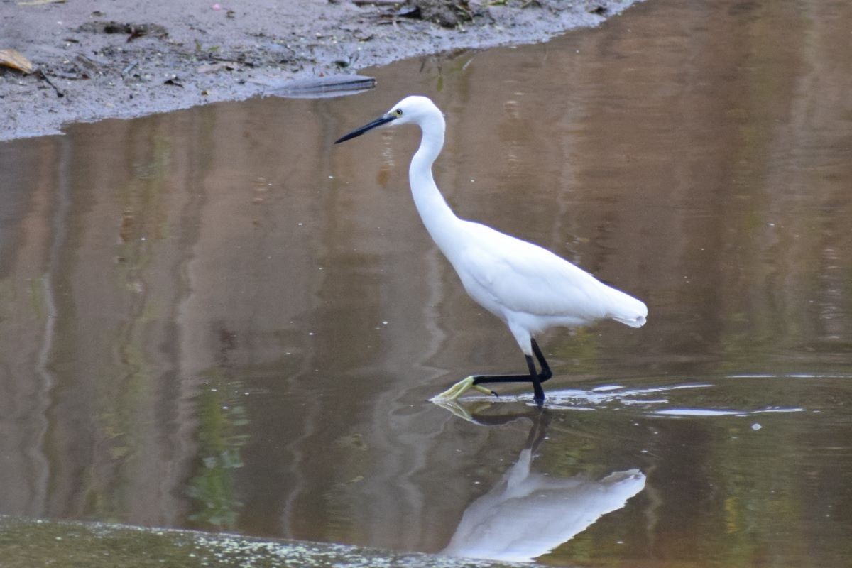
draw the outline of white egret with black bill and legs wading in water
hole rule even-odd
[[[648,316],[642,301],[603,284],[590,273],[536,244],[509,237],[481,223],[459,219],[446,204],[432,176],[444,146],[444,115],[424,96],[408,96],[389,112],[350,132],[338,144],[385,124],[417,124],[423,138],[412,158],[408,181],[417,212],[429,235],[461,278],[464,290],[509,326],[527,359],[525,375],[469,376],[435,399],[458,399],[483,383],[532,382],[533,399],[544,403],[541,383],[553,376],[534,336],[551,327],[575,327],[612,318],[641,327]],[[536,370],[533,356],[541,370]]]

